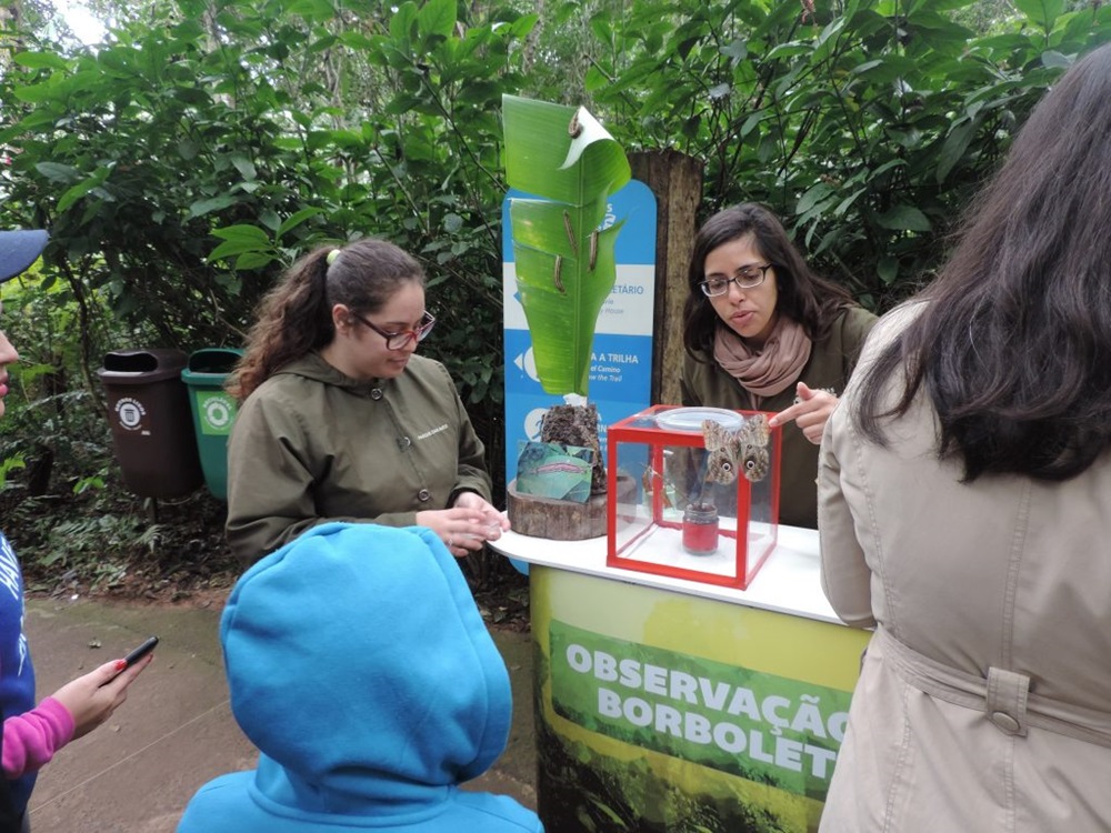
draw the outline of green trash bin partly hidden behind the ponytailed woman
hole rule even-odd
[[[222,501],[228,500],[228,434],[237,413],[236,400],[224,392],[223,383],[242,354],[237,348],[204,348],[190,355],[181,371],[181,381],[189,388],[204,485]]]

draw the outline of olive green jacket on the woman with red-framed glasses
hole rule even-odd
[[[359,381],[317,353],[243,402],[228,442],[228,543],[251,563],[328,521],[411,526],[460,491],[490,500],[484,448],[447,369],[413,355]]]

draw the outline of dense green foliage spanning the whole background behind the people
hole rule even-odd
[[[503,93],[704,160],[704,211],[769,203],[885,309],[1045,87],[1111,37],[1100,0],[104,4],[97,48],[48,39],[40,2],[0,34],[0,225],[52,233],[41,280],[6,291],[24,363],[0,459],[46,449],[79,486],[116,482],[107,350],[239,344],[284,265],[366,234],[426,263],[422,350],[497,465]]]

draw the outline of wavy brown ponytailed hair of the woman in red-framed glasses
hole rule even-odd
[[[406,283],[423,287],[424,271],[384,240],[328,245],[304,255],[262,299],[247,351],[228,381],[229,393],[242,401],[279,368],[331,343],[336,304],[373,313]]]

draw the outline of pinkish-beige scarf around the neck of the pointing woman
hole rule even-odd
[[[728,327],[719,327],[713,339],[713,358],[749,392],[752,410],[759,410],[761,398],[782,393],[798,380],[810,361],[812,347],[802,324],[780,315],[759,352]]]

